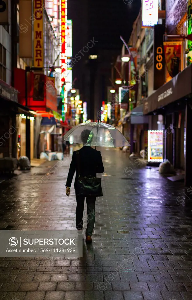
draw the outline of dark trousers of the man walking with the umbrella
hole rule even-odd
[[[76,207],[76,228],[83,228],[83,211],[84,211],[84,201],[85,197],[77,196],[77,207]],[[87,202],[87,229],[85,235],[92,235],[94,223],[95,223],[95,201],[96,197],[86,197]]]

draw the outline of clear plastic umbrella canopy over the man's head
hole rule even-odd
[[[130,146],[117,128],[99,122],[81,123],[74,126],[64,135],[64,140],[97,147],[116,148]]]

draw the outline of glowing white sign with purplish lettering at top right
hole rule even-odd
[[[142,27],[158,24],[158,0],[142,0]]]

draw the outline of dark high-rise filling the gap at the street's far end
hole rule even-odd
[[[111,63],[122,48],[120,35],[128,41],[139,9],[140,0],[68,2],[68,19],[73,21],[73,58],[81,56],[73,64],[74,86],[79,88],[81,100],[87,101],[88,119],[97,118],[106,100]],[[90,59],[90,55],[97,58]]]

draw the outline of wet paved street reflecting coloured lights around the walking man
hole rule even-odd
[[[83,241],[76,259],[0,257],[0,299],[192,299],[192,188],[118,149],[102,149],[102,158],[93,244]],[[65,195],[70,160],[2,182],[0,229],[75,229],[74,189]]]

